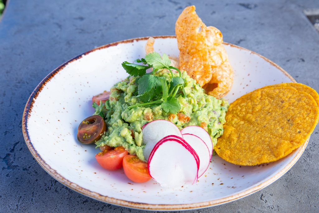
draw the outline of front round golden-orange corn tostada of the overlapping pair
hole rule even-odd
[[[273,162],[301,146],[318,119],[317,103],[306,92],[286,86],[257,89],[229,106],[214,149],[238,165]]]

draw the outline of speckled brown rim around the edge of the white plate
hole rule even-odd
[[[176,38],[176,36],[174,35],[164,35],[164,36],[153,36],[154,38]],[[32,112],[32,108],[33,108],[33,104],[35,102],[35,100],[37,99],[39,93],[42,91],[43,87],[46,85],[46,83],[48,83],[53,77],[54,75],[56,75],[58,72],[60,72],[61,70],[63,70],[64,67],[66,67],[69,63],[76,61],[80,58],[82,58],[83,56],[94,52],[96,50],[100,50],[100,49],[105,49],[111,46],[116,46],[118,44],[122,44],[122,43],[132,43],[134,41],[140,41],[140,40],[146,40],[149,37],[140,37],[140,38],[132,38],[132,39],[127,39],[127,40],[122,40],[122,41],[118,41],[118,42],[114,42],[114,43],[109,43],[100,47],[97,47],[93,50],[87,51],[81,55],[78,55],[76,57],[74,57],[73,59],[70,59],[68,61],[66,61],[65,63],[63,63],[62,65],[60,65],[59,67],[57,67],[55,70],[53,70],[51,73],[49,73],[38,85],[37,87],[33,90],[33,92],[31,93],[27,103],[26,103],[26,107],[24,109],[23,112],[23,117],[22,117],[22,132],[23,132],[23,137],[26,141],[26,145],[29,149],[29,151],[31,152],[31,154],[33,155],[34,159],[40,164],[40,166],[46,171],[48,172],[49,175],[51,175],[53,178],[55,178],[57,181],[59,181],[61,184],[69,187],[70,189],[81,193],[85,196],[91,197],[93,199],[99,200],[99,201],[103,201],[103,202],[107,202],[110,204],[114,204],[114,205],[118,205],[118,206],[123,206],[123,207],[129,207],[129,208],[134,208],[134,209],[145,209],[145,210],[169,210],[169,211],[173,211],[173,210],[189,210],[189,209],[201,209],[201,208],[206,208],[206,207],[211,207],[211,206],[217,206],[220,204],[224,204],[227,202],[231,202],[231,201],[235,201],[238,199],[241,199],[243,197],[246,197],[252,193],[255,193],[261,189],[263,189],[264,187],[270,185],[271,183],[273,183],[274,181],[276,181],[279,177],[283,176],[300,158],[301,154],[304,152],[304,150],[306,149],[306,146],[308,144],[309,138],[307,141],[305,141],[305,143],[303,143],[300,146],[300,149],[298,150],[298,153],[296,154],[296,156],[293,158],[293,160],[291,162],[288,163],[288,165],[286,165],[285,168],[283,168],[282,170],[280,170],[278,173],[276,173],[275,175],[273,175],[271,178],[265,180],[264,182],[260,183],[259,185],[256,185],[252,188],[249,188],[243,192],[237,193],[237,194],[233,194],[230,196],[227,196],[225,198],[221,198],[221,199],[217,199],[217,200],[212,200],[212,201],[204,201],[204,202],[197,202],[197,203],[190,203],[190,204],[148,204],[148,203],[138,203],[138,202],[131,202],[131,201],[126,201],[126,200],[120,200],[120,199],[116,199],[116,198],[112,198],[112,197],[108,197],[108,196],[104,196],[101,195],[99,193],[95,193],[92,192],[88,189],[85,189],[83,187],[78,186],[75,183],[70,182],[68,179],[66,179],[65,177],[63,177],[62,175],[60,175],[56,170],[52,169],[50,167],[50,165],[48,165],[40,156],[40,154],[35,150],[30,137],[29,137],[29,133],[28,133],[28,118],[31,116],[31,112]],[[263,57],[262,55],[250,51],[248,49],[239,47],[237,45],[234,44],[230,44],[230,43],[224,43],[225,45],[229,45],[231,47],[235,47],[238,49],[242,49],[242,50],[247,50],[249,52],[251,52],[252,54],[256,54],[257,56],[263,58],[265,61],[267,61],[268,63],[270,63],[272,66],[278,68],[283,74],[285,74],[288,78],[290,78],[290,80],[292,82],[296,82],[293,77],[291,75],[289,75],[283,68],[279,67],[277,64],[275,64],[274,62],[272,62],[271,60]]]

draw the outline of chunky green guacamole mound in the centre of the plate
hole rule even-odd
[[[167,81],[171,80],[171,74],[166,69],[157,71],[155,75],[163,76]],[[223,124],[229,106],[226,100],[205,94],[196,80],[184,71],[182,78],[185,80],[186,95],[176,95],[181,105],[179,113],[166,113],[160,105],[128,109],[128,106],[143,103],[142,97],[137,97],[138,78],[129,76],[116,83],[110,89],[110,98],[106,104],[96,105],[94,114],[102,114],[108,128],[105,135],[95,143],[97,147],[123,146],[130,154],[136,154],[139,159],[145,161],[142,127],[157,119],[169,120],[180,130],[191,125],[201,126],[210,134],[213,146],[216,145],[217,138],[223,134]]]

